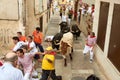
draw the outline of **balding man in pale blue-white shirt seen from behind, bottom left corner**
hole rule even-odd
[[[17,55],[13,52],[7,53],[5,62],[0,67],[0,80],[24,80],[22,71],[15,68],[17,65]]]

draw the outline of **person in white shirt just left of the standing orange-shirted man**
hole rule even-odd
[[[33,41],[33,38],[32,36],[28,36],[27,38],[28,42],[28,52],[32,53],[32,54],[35,54],[36,52],[38,52],[37,48],[36,48],[36,45]]]

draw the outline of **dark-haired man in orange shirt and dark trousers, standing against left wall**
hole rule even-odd
[[[43,34],[40,32],[40,28],[37,27],[36,30],[33,32],[34,42],[36,47],[39,48],[41,52],[44,52],[43,46],[42,46],[42,40],[43,40]]]

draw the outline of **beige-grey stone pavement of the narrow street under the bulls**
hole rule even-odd
[[[51,20],[48,24],[48,30],[45,36],[55,35],[59,32],[59,22],[60,17],[58,14],[55,14],[51,17]],[[73,24],[74,22],[72,22]],[[67,67],[64,67],[64,60],[60,54],[56,56],[56,74],[62,75],[63,80],[85,80],[89,75],[95,74],[100,77],[100,80],[107,80],[103,73],[101,72],[99,66],[94,59],[93,63],[89,62],[89,54],[84,56],[82,54],[85,36],[81,33],[78,40],[74,39],[74,52],[72,54],[73,61],[69,60],[69,56],[67,57]],[[47,43],[44,42],[44,48],[47,46]],[[97,54],[97,53],[96,53]]]

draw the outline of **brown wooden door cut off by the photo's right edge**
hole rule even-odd
[[[120,71],[120,4],[114,5],[108,58]]]

